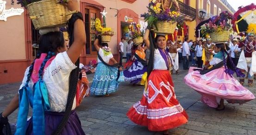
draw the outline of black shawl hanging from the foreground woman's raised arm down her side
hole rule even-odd
[[[71,16],[71,18],[67,22],[67,30],[69,33],[69,46],[72,45],[74,42],[74,24],[77,19],[83,20],[81,12],[77,12]],[[76,86],[77,86],[77,81],[79,77],[79,58],[75,62],[76,68],[71,71],[70,73],[70,79],[69,79],[69,94],[68,94],[68,99],[67,99],[67,105],[65,109],[65,114],[59,123],[57,129],[53,132],[52,135],[59,135],[62,132],[63,127],[66,125],[69,119],[69,115],[71,113],[71,109],[73,106],[75,94],[76,94]]]

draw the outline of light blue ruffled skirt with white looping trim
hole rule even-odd
[[[90,88],[90,95],[103,96],[118,90],[121,81],[124,81],[124,74],[120,72],[117,80],[118,68],[109,67],[99,62],[94,74],[94,80]]]

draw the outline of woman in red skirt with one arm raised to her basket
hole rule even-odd
[[[150,48],[148,84],[142,99],[131,107],[127,116],[150,131],[163,131],[168,135],[169,129],[187,123],[188,116],[175,96],[170,74],[173,60],[165,50],[165,35],[159,34],[153,41],[153,34],[147,29],[144,35],[144,42]]]

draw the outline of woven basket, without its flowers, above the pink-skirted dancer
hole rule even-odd
[[[210,33],[210,37],[212,38],[212,42],[226,42],[229,38],[229,31],[219,31]]]

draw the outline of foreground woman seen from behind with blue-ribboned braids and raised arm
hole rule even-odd
[[[70,11],[80,11],[79,0],[69,0],[67,7]],[[81,12],[72,15],[68,26],[74,31],[69,49],[58,28],[39,31],[38,56],[26,69],[19,94],[1,113],[1,119],[7,119],[19,107],[17,135],[85,135],[74,110],[76,98],[69,94],[70,87],[77,86],[73,82],[78,80],[70,73],[76,69],[75,63],[86,42]],[[27,122],[29,104],[33,114]]]

